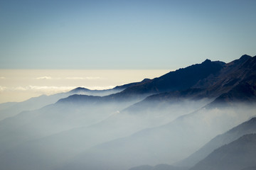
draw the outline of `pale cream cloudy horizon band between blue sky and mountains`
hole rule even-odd
[[[153,79],[171,69],[1,69],[0,103],[21,102],[41,95],[67,92],[77,87],[112,89],[143,79]]]

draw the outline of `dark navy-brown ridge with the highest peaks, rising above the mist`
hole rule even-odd
[[[206,69],[207,68],[207,69]],[[131,86],[119,94],[144,94],[169,92],[173,96],[193,98],[216,98],[228,93],[238,84],[254,86],[256,77],[256,57],[243,55],[238,60],[228,64],[223,62],[210,62],[206,60],[175,72],[169,72],[162,77],[152,79],[146,83]],[[166,97],[167,94],[164,94]],[[161,97],[161,96],[160,96]]]

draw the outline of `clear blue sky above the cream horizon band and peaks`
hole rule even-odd
[[[256,55],[256,1],[1,0],[0,69],[178,69]]]

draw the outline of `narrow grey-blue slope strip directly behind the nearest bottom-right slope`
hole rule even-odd
[[[213,140],[210,140],[210,142],[201,147],[201,149],[199,149],[197,152],[191,154],[190,157],[183,159],[181,162],[178,162],[177,165],[190,167],[194,166],[196,163],[210,154],[210,152],[213,152],[214,149],[217,149],[223,145],[227,145],[228,143],[237,140],[239,137],[242,137],[242,135],[250,133],[256,133],[256,118],[251,118],[250,120],[236,126],[228,132],[214,137]]]

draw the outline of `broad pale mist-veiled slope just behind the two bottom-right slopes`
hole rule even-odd
[[[166,125],[92,147],[60,169],[126,170],[139,164],[173,164],[252,115],[255,109],[245,112],[240,106],[222,110],[203,108]]]

